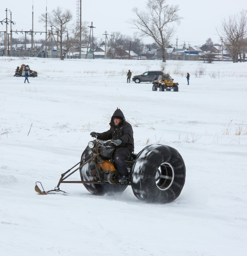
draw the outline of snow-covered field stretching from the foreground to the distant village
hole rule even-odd
[[[22,63],[38,72],[29,84],[13,77]],[[179,91],[129,84],[128,69],[163,69]],[[246,255],[246,70],[230,62],[0,57],[1,255]],[[160,143],[182,155],[180,196],[146,204],[131,187],[94,196],[82,184],[62,184],[66,196],[37,194],[35,182],[54,189],[117,107],[133,126],[135,153]]]

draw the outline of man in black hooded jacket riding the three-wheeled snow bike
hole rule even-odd
[[[117,108],[113,113],[110,122],[110,129],[106,132],[91,132],[91,136],[97,136],[100,140],[111,140],[117,145],[113,159],[119,172],[119,182],[126,182],[129,179],[129,172],[125,159],[134,152],[133,129],[130,123],[125,120],[123,112]]]

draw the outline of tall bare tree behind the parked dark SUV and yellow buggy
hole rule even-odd
[[[180,23],[182,17],[178,16],[178,5],[168,5],[166,0],[148,0],[146,3],[147,12],[141,12],[134,8],[136,18],[130,19],[129,23],[134,25],[141,32],[141,36],[151,36],[162,49],[163,62],[165,58],[165,46],[174,35],[174,22]]]

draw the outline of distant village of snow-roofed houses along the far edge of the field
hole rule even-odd
[[[50,47],[51,48],[51,47]],[[4,45],[0,45],[0,56],[5,56]],[[31,43],[12,45],[8,49],[8,56],[13,57],[38,57],[38,58],[60,58],[60,51],[54,45],[53,50],[45,47],[44,44]],[[79,58],[79,46],[71,48],[65,58]],[[132,50],[123,50],[118,47],[97,46],[95,49],[81,47],[81,58],[112,58],[112,59],[162,59],[162,49],[144,48],[141,54],[136,54]],[[167,60],[202,60],[212,61],[232,61],[229,52],[222,49],[221,45],[213,45],[207,51],[203,51],[200,46],[186,47],[185,45],[166,47]]]

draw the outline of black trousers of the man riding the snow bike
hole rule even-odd
[[[113,159],[115,161],[115,165],[120,176],[129,175],[127,165],[124,160],[129,156],[130,151],[128,147],[117,147],[116,151],[113,154]]]

